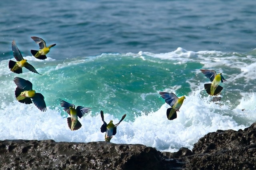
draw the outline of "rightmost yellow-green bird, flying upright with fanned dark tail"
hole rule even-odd
[[[220,93],[223,89],[223,87],[219,85],[220,82],[226,82],[226,79],[224,79],[222,73],[217,74],[216,71],[208,69],[200,69],[200,71],[212,82],[204,84],[204,89],[206,90],[206,93],[211,96],[218,95],[218,93]]]

